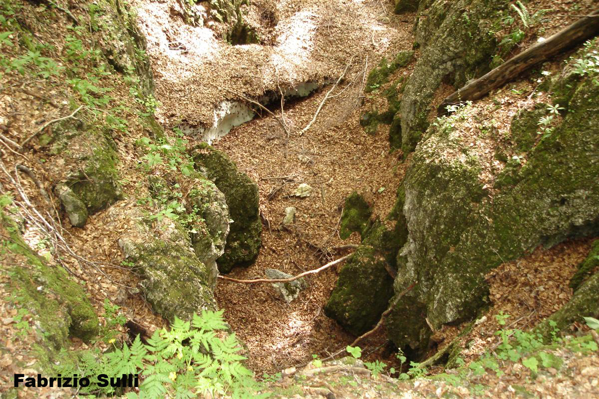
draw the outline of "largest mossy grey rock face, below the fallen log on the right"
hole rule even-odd
[[[483,275],[498,264],[599,232],[599,86],[565,76],[563,120],[503,169],[489,171],[488,157],[477,152],[483,146],[461,138],[465,114],[429,127],[404,181],[410,233],[397,258],[395,293],[416,285],[388,319],[396,345],[423,349],[431,328],[472,318],[485,303]],[[553,84],[556,98],[564,98],[561,79]],[[525,125],[516,118],[512,135],[526,136],[519,129]],[[522,145],[516,141],[514,151]]]

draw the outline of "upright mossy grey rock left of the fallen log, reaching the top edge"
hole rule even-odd
[[[428,127],[441,83],[456,88],[489,70],[497,48],[494,29],[507,0],[421,1],[416,42],[423,49],[400,106],[402,149],[410,153]]]

